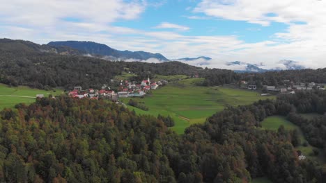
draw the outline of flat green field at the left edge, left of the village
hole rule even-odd
[[[33,103],[36,94],[44,94],[45,96],[59,95],[63,91],[56,89],[54,91],[45,91],[41,89],[31,89],[29,87],[8,87],[7,85],[0,84],[0,110],[4,107],[14,107],[17,103]]]

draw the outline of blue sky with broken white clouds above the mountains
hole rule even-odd
[[[326,67],[326,0],[0,0],[0,37],[93,41],[111,48],[208,56],[189,64],[224,68],[239,60]],[[150,60],[150,62],[155,60]]]

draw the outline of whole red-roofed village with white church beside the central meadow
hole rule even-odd
[[[141,82],[128,80],[120,80],[117,91],[115,92],[107,85],[103,85],[101,89],[82,89],[81,86],[76,86],[71,92],[68,92],[68,96],[73,98],[107,98],[111,101],[118,101],[119,98],[127,97],[142,97],[150,91],[150,89],[157,89],[160,86],[167,85],[167,80],[142,80]]]

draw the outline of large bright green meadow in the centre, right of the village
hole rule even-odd
[[[203,123],[215,112],[220,112],[227,105],[247,105],[259,99],[274,98],[274,96],[260,96],[258,92],[243,89],[229,89],[226,87],[199,87],[193,85],[202,78],[191,78],[169,83],[153,91],[151,96],[134,98],[146,105],[149,110],[134,109],[138,114],[170,115],[176,125],[172,128],[178,134],[183,134],[185,128],[194,123]],[[123,98],[127,103],[130,98]]]

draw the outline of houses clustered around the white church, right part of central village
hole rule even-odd
[[[147,80],[142,80],[141,84],[136,84],[136,82],[129,82],[128,80],[121,80],[120,87],[118,89],[119,97],[130,97],[130,96],[143,96],[150,89],[157,89],[157,87],[166,85],[167,80],[151,81],[150,78]]]

